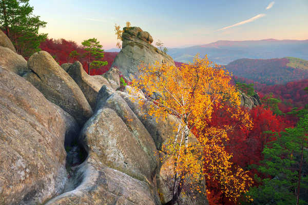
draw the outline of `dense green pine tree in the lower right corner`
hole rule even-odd
[[[272,133],[272,132],[271,132]],[[308,204],[301,195],[308,189],[308,114],[295,128],[275,133],[263,150],[258,170],[268,176],[248,195],[252,204]]]

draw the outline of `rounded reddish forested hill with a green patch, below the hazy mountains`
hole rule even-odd
[[[308,78],[308,61],[294,57],[237,59],[225,66],[238,77],[275,85]]]

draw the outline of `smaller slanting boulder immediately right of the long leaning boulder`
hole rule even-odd
[[[79,61],[73,63],[67,70],[67,73],[75,80],[76,84],[84,93],[91,108],[94,109],[97,95],[103,85],[95,78],[88,75]]]

